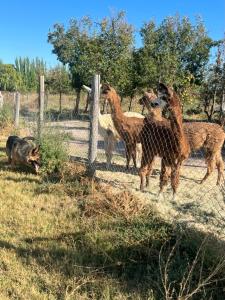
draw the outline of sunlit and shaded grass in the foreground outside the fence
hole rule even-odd
[[[178,299],[204,234],[166,223],[126,191],[91,182],[82,165],[68,164],[54,184],[10,170],[0,146],[0,299],[166,299],[160,265],[166,271],[168,258],[171,299]],[[191,289],[223,249],[207,239]],[[217,281],[191,299],[224,299],[224,275],[221,267]]]

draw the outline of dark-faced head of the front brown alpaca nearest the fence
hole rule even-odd
[[[172,104],[174,97],[174,92],[171,88],[167,87],[163,83],[159,83],[158,86],[158,97],[151,102],[151,107],[160,107],[163,109],[165,106],[170,106]]]

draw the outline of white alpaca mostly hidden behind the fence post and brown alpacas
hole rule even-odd
[[[90,98],[91,88],[85,85],[83,85],[83,88],[88,92],[88,97]],[[125,112],[124,115],[127,117],[144,118],[143,115],[137,112]],[[99,110],[99,118],[98,118],[98,129],[99,129],[99,134],[104,138],[106,166],[108,169],[112,163],[113,151],[115,150],[116,143],[121,141],[121,136],[119,135],[118,131],[114,126],[112,115],[101,114],[100,110]],[[142,147],[141,144],[139,143],[136,144],[137,161],[141,161],[141,155],[142,155]],[[129,167],[129,163],[127,163],[127,165]]]

